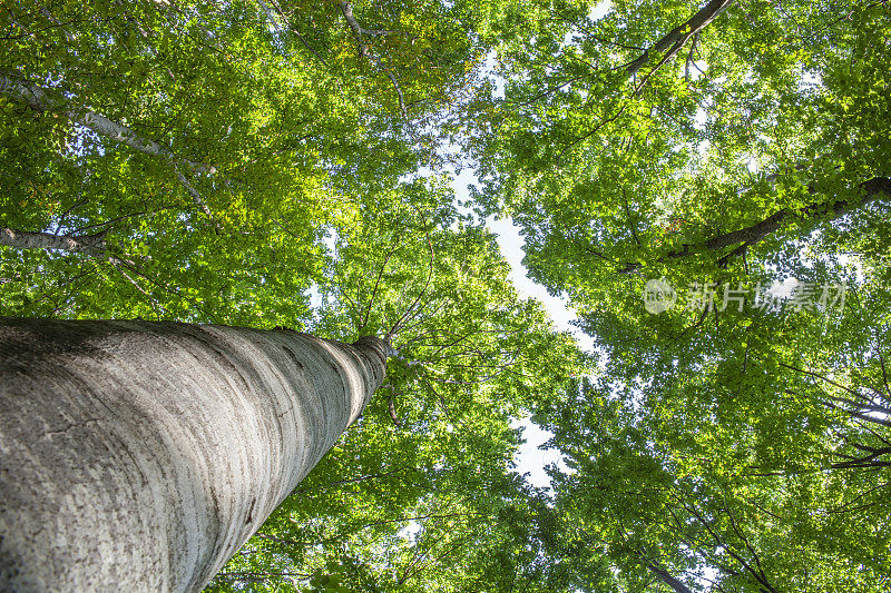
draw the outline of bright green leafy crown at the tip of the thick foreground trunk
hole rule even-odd
[[[510,508],[525,516],[529,496],[544,496],[511,473],[511,418],[556,396],[585,360],[537,303],[517,296],[493,237],[462,219],[449,191],[423,188],[404,201],[379,195],[344,228],[312,326],[386,335],[399,325],[379,396],[215,590],[298,590],[319,571],[356,591],[471,591],[495,570],[480,566],[486,551],[502,544],[512,566],[502,590],[548,572],[548,562],[523,563],[526,546],[540,545],[535,532],[497,520]]]

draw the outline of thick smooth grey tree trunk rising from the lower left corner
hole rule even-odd
[[[390,352],[0,319],[0,590],[199,591],[359,417]]]

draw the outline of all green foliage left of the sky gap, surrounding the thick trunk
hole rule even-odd
[[[536,535],[492,521],[536,495],[511,473],[511,419],[582,357],[447,180],[415,172],[450,160],[435,125],[486,89],[484,7],[43,8],[3,13],[6,315],[389,335],[400,352],[209,587],[473,589],[498,542],[522,546],[501,586],[535,579]]]

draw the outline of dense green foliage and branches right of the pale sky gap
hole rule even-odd
[[[571,470],[566,537],[617,590],[878,591],[888,7],[676,4],[508,37],[474,145],[481,204],[604,355],[536,415]]]

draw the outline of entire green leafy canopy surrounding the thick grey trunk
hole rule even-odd
[[[208,591],[888,589],[887,1],[25,0],[0,39],[0,315],[398,350]]]

